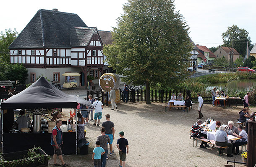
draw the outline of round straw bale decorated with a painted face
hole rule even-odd
[[[99,86],[104,91],[110,91],[110,87],[113,89],[118,89],[120,85],[120,78],[115,73],[104,73],[99,78]]]

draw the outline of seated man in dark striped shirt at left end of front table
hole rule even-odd
[[[203,121],[201,119],[199,119],[195,124],[193,124],[192,129],[191,129],[191,133],[193,135],[193,137],[199,138],[199,139],[207,139],[207,135],[204,133],[201,133],[201,128],[199,127],[201,124],[203,123]],[[202,142],[200,145],[200,148],[204,148],[206,149],[206,147],[210,147],[206,142]]]

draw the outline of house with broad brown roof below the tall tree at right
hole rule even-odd
[[[214,52],[214,55],[217,58],[220,58],[222,56],[224,56],[227,61],[230,61],[230,54],[232,55],[232,48],[229,47],[225,47],[225,46],[220,46],[217,51]],[[238,53],[238,51],[235,50],[234,48],[234,53],[233,53],[233,62],[238,59],[240,56],[240,53]]]

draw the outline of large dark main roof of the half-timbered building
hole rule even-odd
[[[9,48],[70,48],[74,27],[87,25],[77,14],[40,9]]]

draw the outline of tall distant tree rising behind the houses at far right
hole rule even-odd
[[[232,47],[237,50],[243,57],[246,55],[247,41],[248,46],[251,46],[251,39],[248,37],[249,33],[237,25],[232,25],[227,28],[225,33],[222,33],[223,46]]]

